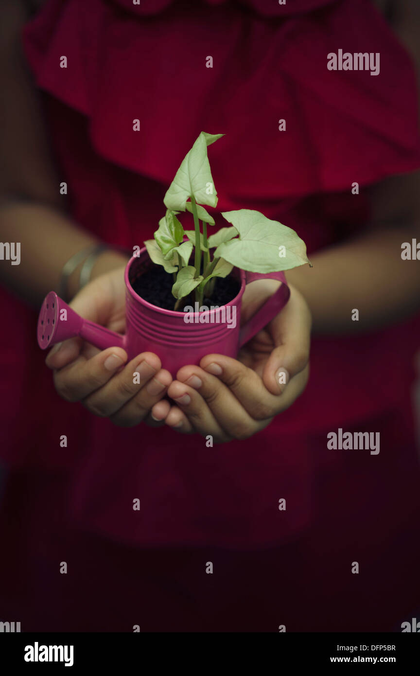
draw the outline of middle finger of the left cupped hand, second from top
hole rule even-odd
[[[111,416],[137,395],[157,375],[160,368],[161,360],[156,354],[142,352],[103,387],[90,393],[83,400],[83,405],[97,416]],[[151,389],[153,394],[157,394],[157,386]]]

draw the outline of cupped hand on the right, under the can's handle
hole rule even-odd
[[[245,315],[254,302],[251,293]],[[209,354],[200,366],[184,366],[167,391],[175,405],[159,402],[153,416],[182,433],[211,435],[216,443],[251,437],[305,389],[310,333],[307,303],[290,287],[284,310],[244,345],[238,360]]]

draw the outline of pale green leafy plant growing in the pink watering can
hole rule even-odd
[[[305,242],[294,230],[257,211],[240,209],[222,213],[232,225],[207,237],[207,225],[213,226],[215,221],[203,205],[217,206],[207,146],[222,136],[201,132],[165,194],[166,214],[159,221],[155,239],[145,242],[151,260],[174,275],[172,294],[177,299],[176,310],[181,299],[192,291],[201,304],[204,295],[210,296],[213,292],[215,278],[226,277],[234,266],[267,273],[309,263]],[[184,230],[177,218],[180,212],[187,211],[192,214],[193,231]],[[211,249],[214,249],[213,255]]]

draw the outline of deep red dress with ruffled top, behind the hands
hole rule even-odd
[[[76,222],[110,244],[151,237],[203,129],[226,134],[211,147],[219,210],[261,210],[309,254],[363,230],[364,187],[420,166],[413,66],[367,0],[51,0],[24,45],[57,185],[68,183]],[[379,76],[327,70],[338,49],[379,52]],[[296,404],[209,449],[61,401],[36,312],[1,299],[13,319],[0,357],[2,606],[22,631],[381,631],[411,617],[418,320],[315,338]],[[380,432],[379,454],[328,450],[338,428]]]

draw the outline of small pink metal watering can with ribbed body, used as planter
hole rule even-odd
[[[80,336],[99,349],[122,347],[128,359],[140,352],[154,352],[159,356],[163,368],[176,377],[176,372],[186,364],[199,364],[200,360],[212,352],[236,357],[238,349],[275,317],[286,305],[290,290],[284,272],[244,272],[235,268],[240,280],[238,295],[226,308],[226,316],[236,311],[236,325],[226,320],[219,321],[220,310],[207,310],[192,314],[193,321],[186,323],[186,312],[163,310],[142,299],[133,289],[132,283],[153,266],[146,247],[138,256],[132,257],[124,273],[126,282],[126,334],[121,335],[80,317],[61,298],[50,291],[43,301],[38,318],[37,338],[41,349],[52,347],[68,338]],[[257,279],[276,279],[282,282],[278,291],[240,327],[240,308],[246,284]],[[228,306],[232,314],[229,314]],[[63,312],[65,310],[65,312]],[[207,315],[205,322],[199,322],[200,315]],[[212,314],[214,316],[212,317]],[[222,314],[223,316],[223,314]],[[202,317],[203,319],[204,317]],[[191,319],[191,316],[190,316]]]

